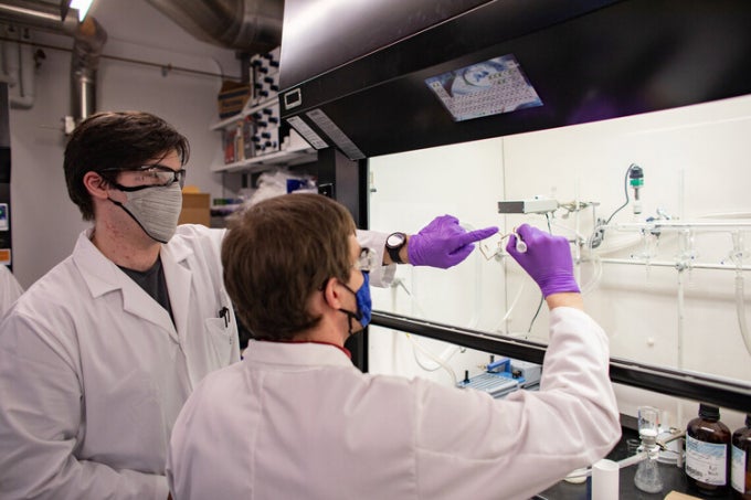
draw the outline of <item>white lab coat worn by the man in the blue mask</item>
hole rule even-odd
[[[362,374],[334,345],[251,342],[209,375],[172,432],[178,500],[526,499],[621,435],[607,339],[551,311],[539,392],[505,400]]]

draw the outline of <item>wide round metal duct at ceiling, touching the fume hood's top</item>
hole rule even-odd
[[[194,38],[250,54],[282,42],[284,0],[148,0]]]

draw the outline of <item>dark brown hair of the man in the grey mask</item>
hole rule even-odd
[[[188,139],[161,118],[142,111],[97,113],[78,125],[65,146],[65,183],[67,194],[78,205],[84,221],[94,219],[94,204],[83,179],[86,172],[101,173],[114,182],[117,170],[145,164],[176,151],[182,164],[188,162]]]

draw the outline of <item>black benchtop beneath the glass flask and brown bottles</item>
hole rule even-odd
[[[606,458],[615,461],[626,458],[628,456],[626,439],[638,439],[638,433],[631,428],[624,428],[621,440]],[[678,491],[680,493],[690,494],[697,498],[710,498],[689,489],[683,468],[676,467],[675,464],[663,462],[658,462],[657,466],[663,478],[663,491],[659,493],[645,493],[644,491],[638,490],[636,486],[634,486],[634,475],[636,474],[636,468],[638,465],[633,465],[624,467],[620,471],[618,500],[662,500],[670,491]],[[532,497],[532,499],[589,500],[588,483],[582,482],[580,485],[575,485],[567,481],[559,481],[554,486],[539,493],[537,497]],[[711,497],[711,499],[731,500],[732,493],[728,492],[727,494]]]

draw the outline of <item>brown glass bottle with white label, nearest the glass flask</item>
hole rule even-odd
[[[699,416],[686,428],[686,481],[707,497],[728,493],[730,429],[720,422],[717,406],[699,405]]]

